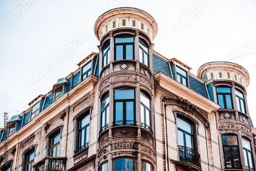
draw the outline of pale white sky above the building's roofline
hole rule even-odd
[[[28,109],[28,103],[39,94],[48,93],[58,78],[75,71],[77,63],[91,52],[98,52],[95,21],[105,11],[117,7],[135,7],[151,14],[158,24],[154,50],[184,62],[193,68],[191,72],[195,75],[201,65],[210,61],[228,60],[243,66],[250,74],[247,101],[256,125],[253,111],[256,1],[2,0],[0,127],[3,127],[4,112],[9,112],[10,119]],[[190,18],[186,20],[187,15]],[[177,29],[177,23],[184,25]],[[81,44],[64,59],[63,49],[73,44],[78,35],[82,36]],[[238,56],[243,57],[229,60]],[[34,84],[35,77],[54,61],[55,68],[30,91],[27,84]]]

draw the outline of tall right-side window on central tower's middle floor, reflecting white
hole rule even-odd
[[[144,129],[152,132],[150,98],[143,92],[140,92],[140,121]]]

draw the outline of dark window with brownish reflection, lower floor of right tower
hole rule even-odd
[[[237,135],[222,135],[225,168],[241,168]]]

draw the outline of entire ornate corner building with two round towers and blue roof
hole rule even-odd
[[[0,130],[0,170],[254,170],[248,72],[218,61],[195,76],[153,50],[157,30],[140,9],[103,13],[99,52]]]

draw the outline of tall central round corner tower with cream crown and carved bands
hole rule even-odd
[[[153,169],[156,21],[140,9],[116,8],[97,19],[94,33],[100,41],[97,169]]]

